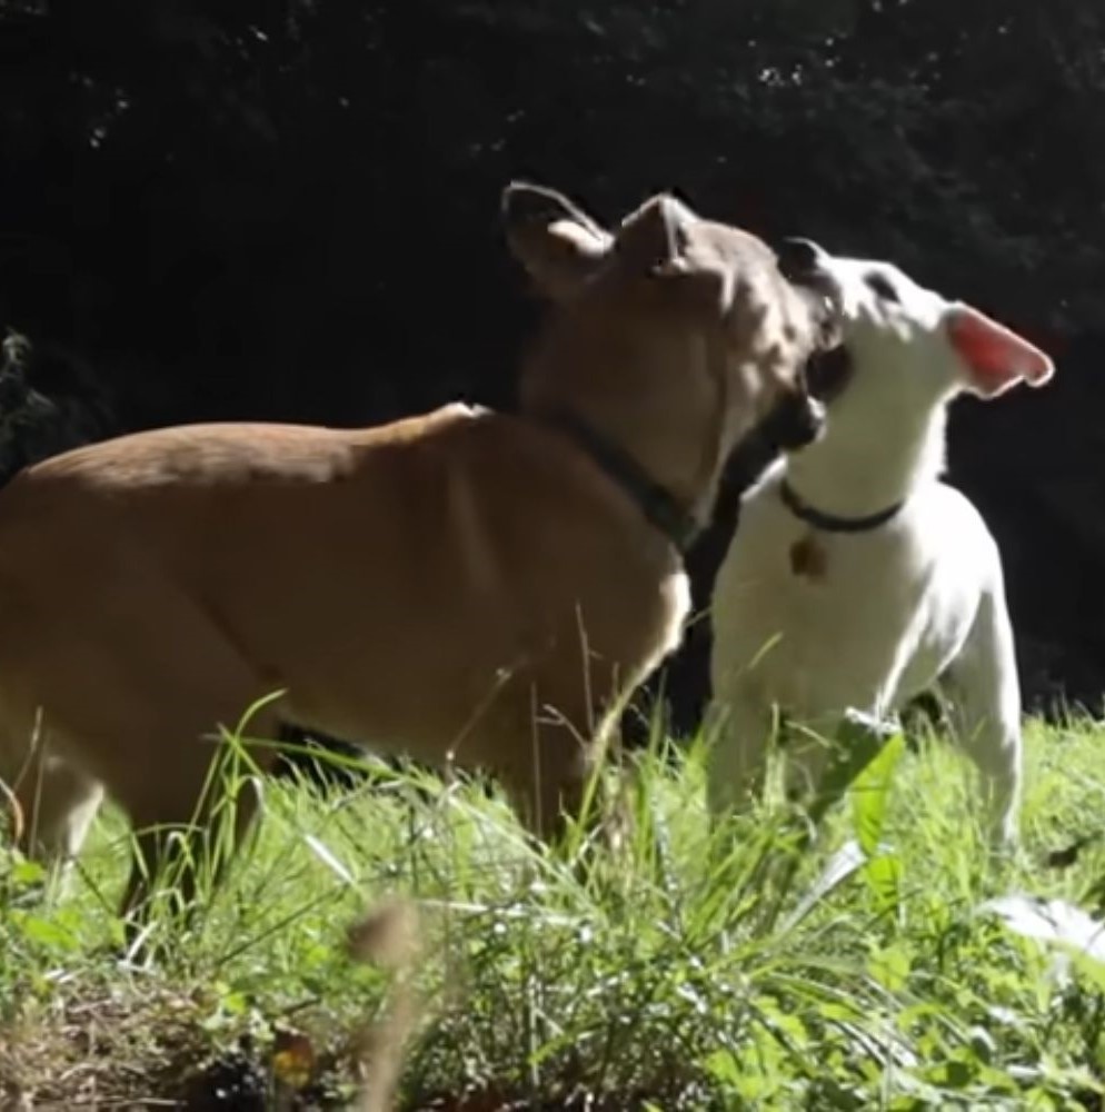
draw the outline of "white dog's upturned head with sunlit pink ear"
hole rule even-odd
[[[1035,345],[963,301],[918,286],[888,262],[829,255],[808,239],[786,240],[779,268],[837,302],[844,346],[815,360],[810,389],[848,408],[852,386],[866,400],[932,408],[960,393],[994,398],[1017,383],[1043,386],[1054,373]],[[834,405],[835,403],[835,405]]]

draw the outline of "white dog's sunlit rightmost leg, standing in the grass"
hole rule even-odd
[[[942,679],[956,737],[989,792],[987,835],[996,848],[1017,841],[1021,810],[1021,686],[1013,629],[999,593],[987,593],[963,651]]]

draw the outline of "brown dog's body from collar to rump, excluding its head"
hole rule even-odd
[[[202,708],[210,728],[278,688],[299,724],[510,770],[534,695],[575,719],[585,683],[670,647],[656,585],[680,574],[601,471],[519,418],[450,406],[368,431],[146,433],[0,495],[2,704],[47,707],[98,775],[141,772],[137,795],[179,734],[122,707],[182,698],[175,713]],[[225,666],[240,705],[203,706],[183,677],[222,653],[240,659]]]

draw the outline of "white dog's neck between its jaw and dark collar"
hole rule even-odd
[[[878,514],[944,470],[947,407],[839,415],[832,407],[815,444],[786,461],[790,487],[823,514],[859,518]]]

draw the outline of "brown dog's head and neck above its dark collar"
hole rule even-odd
[[[554,305],[521,381],[527,411],[573,409],[704,516],[729,453],[780,407],[817,433],[803,368],[836,310],[738,228],[658,195],[610,232],[551,189],[502,200],[515,256]]]

